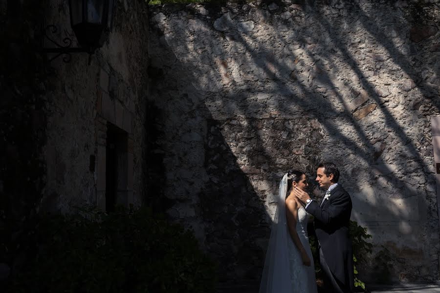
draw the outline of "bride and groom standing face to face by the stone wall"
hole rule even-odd
[[[352,293],[352,200],[337,183],[339,170],[333,163],[319,164],[315,180],[326,190],[320,202],[312,200],[305,191],[308,183],[302,171],[286,173],[280,183],[260,293],[317,293],[308,244],[309,214],[314,217],[324,292]]]

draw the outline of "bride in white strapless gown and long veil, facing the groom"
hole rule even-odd
[[[317,293],[308,213],[291,191],[307,186],[306,174],[298,170],[281,180],[259,293]]]

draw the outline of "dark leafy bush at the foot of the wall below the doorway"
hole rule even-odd
[[[38,252],[10,292],[206,293],[213,263],[191,231],[149,209],[40,217]]]

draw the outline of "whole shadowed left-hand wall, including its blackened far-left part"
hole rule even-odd
[[[67,2],[0,1],[0,284],[35,249],[36,213],[106,209],[108,128],[124,138],[116,203],[139,205],[145,197],[146,4],[115,1],[110,38],[89,65],[87,53],[48,62],[45,25],[58,27],[55,41],[69,37],[77,46]]]

